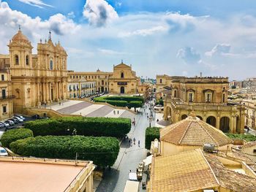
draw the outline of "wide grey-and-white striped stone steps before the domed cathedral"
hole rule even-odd
[[[53,104],[46,107],[62,114],[83,115],[85,117],[105,118],[135,118],[135,114],[129,110],[118,110],[107,104],[91,104],[88,101],[69,100],[63,104]],[[114,112],[115,111],[115,112]]]

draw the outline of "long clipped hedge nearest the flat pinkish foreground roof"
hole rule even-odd
[[[113,137],[38,136],[10,144],[14,153],[38,158],[65,158],[94,161],[97,166],[112,166],[119,152],[118,139]]]

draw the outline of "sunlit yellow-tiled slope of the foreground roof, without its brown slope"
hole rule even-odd
[[[151,192],[169,192],[214,188],[219,183],[201,150],[190,150],[154,158],[148,185]]]

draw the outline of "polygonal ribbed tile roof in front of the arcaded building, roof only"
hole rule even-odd
[[[175,145],[198,145],[209,143],[215,146],[224,146],[232,142],[217,128],[200,120],[188,117],[178,123],[167,126],[160,130],[160,140]]]

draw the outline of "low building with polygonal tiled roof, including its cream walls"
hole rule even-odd
[[[195,117],[188,118],[160,129],[162,155],[175,155],[187,150],[214,145],[217,150],[227,150],[232,140],[222,131]]]

